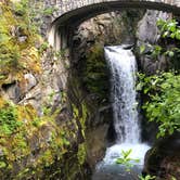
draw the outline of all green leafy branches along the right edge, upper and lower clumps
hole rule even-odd
[[[143,94],[146,94],[143,108],[147,119],[159,125],[157,137],[164,137],[180,131],[180,26],[176,20],[159,20],[157,26],[160,31],[159,44],[142,44],[140,53],[149,53],[157,61],[165,56],[169,62],[169,69],[176,73],[162,73],[150,77],[141,74],[137,90],[143,90]]]

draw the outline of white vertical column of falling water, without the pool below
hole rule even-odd
[[[117,143],[138,143],[140,127],[136,101],[136,57],[123,47],[106,47],[105,57],[112,72],[112,103]]]

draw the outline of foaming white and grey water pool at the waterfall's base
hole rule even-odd
[[[115,144],[106,150],[106,155],[100,162],[92,176],[92,180],[134,180],[141,175],[144,155],[150,149],[146,144]],[[140,159],[139,163],[132,162],[133,167],[130,171],[123,165],[116,164],[116,159],[121,156],[121,151],[132,150],[131,159]]]

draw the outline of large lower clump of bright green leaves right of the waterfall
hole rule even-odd
[[[180,131],[180,75],[162,73],[150,77],[144,75],[139,77],[141,82],[137,89],[142,89],[149,97],[143,108],[149,120],[159,125],[157,137]]]

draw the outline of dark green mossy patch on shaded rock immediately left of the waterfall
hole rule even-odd
[[[100,101],[108,97],[108,75],[103,47],[94,44],[87,53],[82,69],[82,81],[87,90],[95,94]]]

